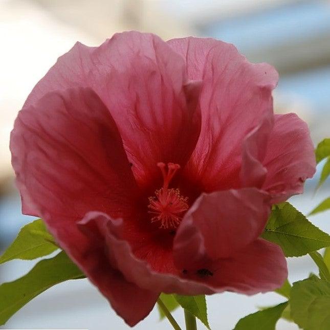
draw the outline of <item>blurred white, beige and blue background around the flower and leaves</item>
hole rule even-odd
[[[0,0],[0,253],[32,220],[20,212],[10,166],[9,135],[35,83],[79,40],[98,46],[115,32],[153,32],[164,40],[194,35],[232,42],[253,62],[273,64],[280,74],[275,111],[296,112],[315,144],[330,137],[330,1],[297,0]],[[291,202],[309,212],[330,195],[330,183],[314,194],[320,174]],[[330,212],[311,221],[330,232]],[[25,274],[34,262],[0,266],[0,283]],[[289,259],[290,280],[316,271],[308,257]],[[1,297],[0,297],[1,299]],[[232,329],[257,306],[281,302],[274,293],[208,297],[213,329]],[[174,317],[183,324],[183,315]],[[137,329],[169,329],[157,309]],[[200,325],[201,329],[203,325]],[[41,294],[4,327],[21,329],[125,329],[105,299],[87,282],[63,283]],[[279,321],[277,329],[297,329]]]

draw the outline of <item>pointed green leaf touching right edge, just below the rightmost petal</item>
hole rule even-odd
[[[330,236],[288,202],[273,208],[261,237],[278,244],[287,257],[299,257],[330,246]]]

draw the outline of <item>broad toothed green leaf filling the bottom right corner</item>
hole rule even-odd
[[[316,276],[293,283],[291,316],[305,330],[330,329],[330,283]]]

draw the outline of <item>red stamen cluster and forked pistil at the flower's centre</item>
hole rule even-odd
[[[164,183],[161,189],[155,191],[155,196],[149,197],[149,213],[155,214],[151,222],[158,222],[159,228],[175,229],[182,220],[183,212],[189,208],[188,197],[181,196],[178,188],[168,188],[180,165],[168,163],[167,169],[164,163],[157,166],[162,171]]]

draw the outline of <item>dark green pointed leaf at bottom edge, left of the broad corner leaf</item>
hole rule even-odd
[[[280,319],[287,302],[282,302],[266,310],[258,311],[240,319],[234,330],[275,330],[277,321]]]

